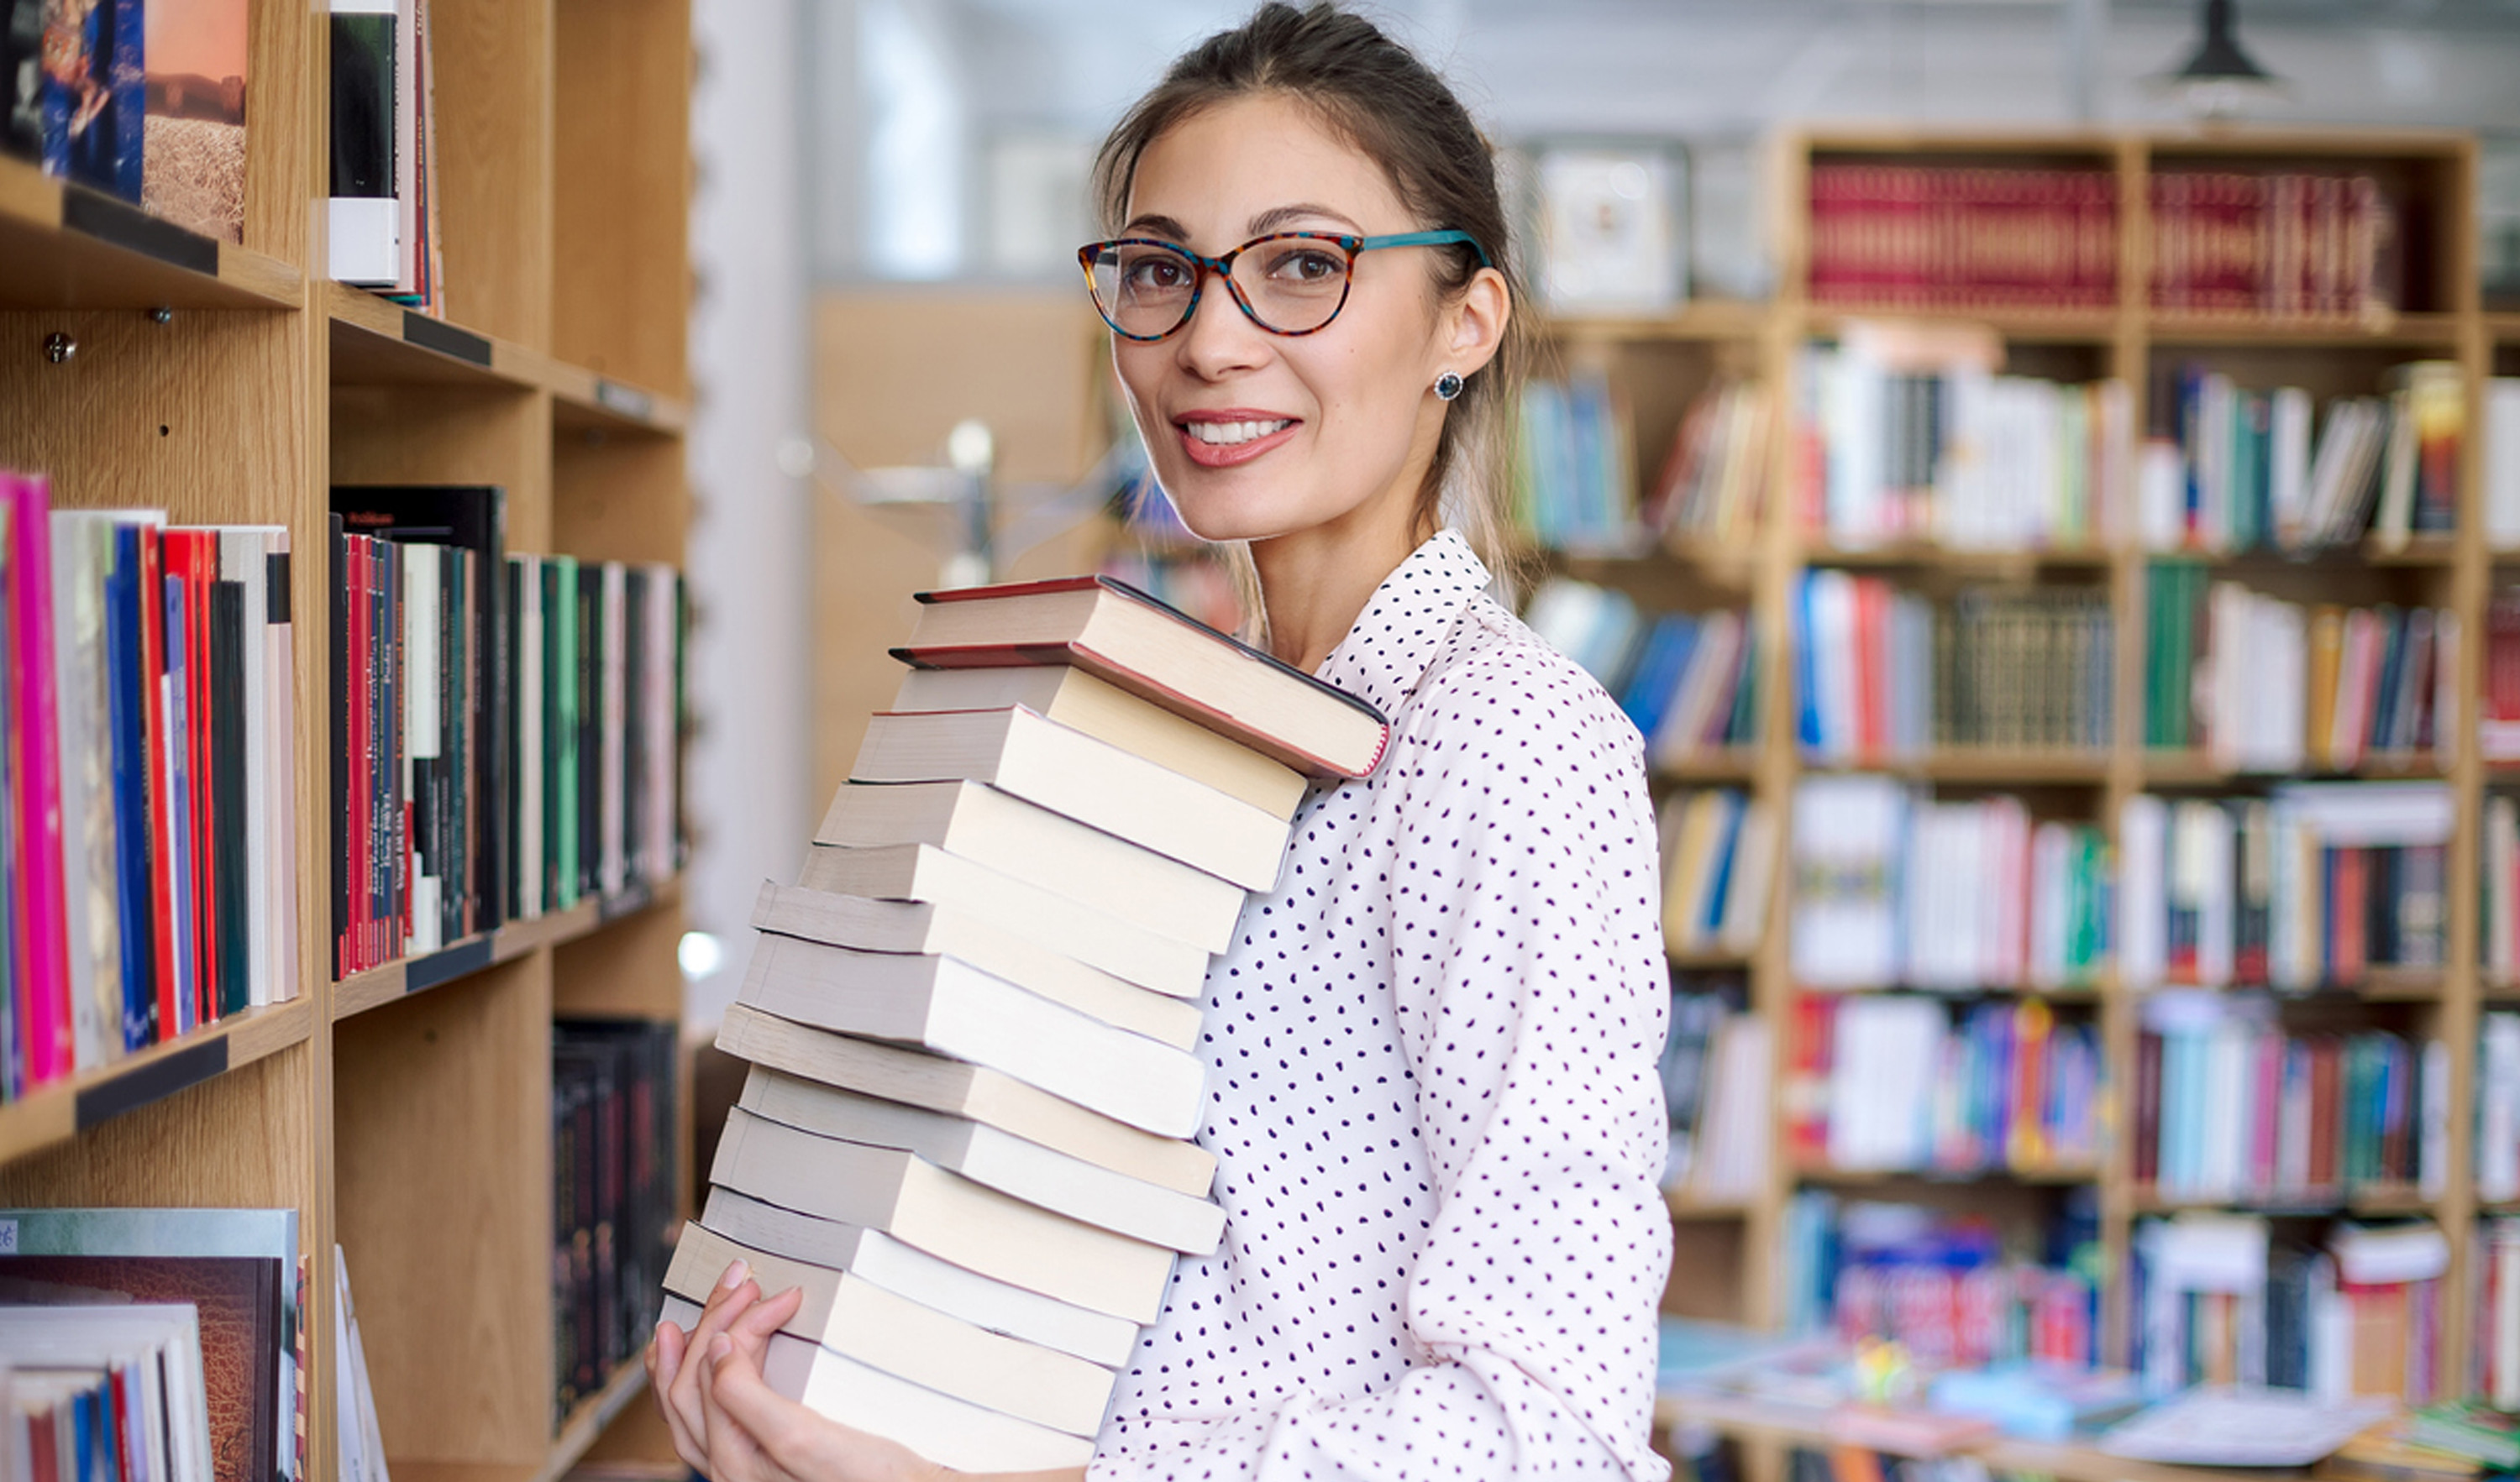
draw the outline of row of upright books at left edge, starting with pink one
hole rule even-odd
[[[0,1099],[297,996],[282,527],[0,474]]]

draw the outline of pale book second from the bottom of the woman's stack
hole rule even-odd
[[[751,1245],[738,1245],[708,1225],[683,1225],[665,1270],[665,1290],[706,1303],[728,1263],[743,1260],[761,1283],[761,1295],[789,1288],[804,1293],[796,1316],[781,1331],[822,1343],[882,1369],[895,1379],[925,1384],[940,1394],[985,1404],[998,1414],[1028,1419],[1036,1427],[1089,1437],[1111,1404],[1111,1371],[1038,1343],[990,1333],[864,1275],[827,1270],[789,1260]]]

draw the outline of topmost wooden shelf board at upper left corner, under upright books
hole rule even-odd
[[[0,156],[0,307],[292,310],[297,267]]]

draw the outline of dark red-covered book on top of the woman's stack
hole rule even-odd
[[[920,592],[892,658],[915,668],[1076,665],[1308,776],[1368,776],[1381,711],[1111,577]]]

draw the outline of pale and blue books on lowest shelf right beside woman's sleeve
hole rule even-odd
[[[1767,1187],[1769,1036],[1767,1021],[1744,1013],[1744,1003],[1739,978],[1681,975],[1671,988],[1671,1036],[1663,1041],[1671,1157],[1663,1187],[1704,1205],[1746,1202]]]

